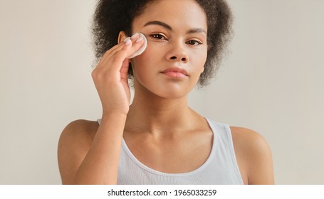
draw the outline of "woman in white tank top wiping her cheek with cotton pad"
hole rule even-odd
[[[103,116],[63,130],[63,184],[273,183],[271,152],[259,134],[206,119],[187,104],[197,82],[206,85],[216,70],[230,26],[223,0],[99,1],[100,62],[92,76]]]

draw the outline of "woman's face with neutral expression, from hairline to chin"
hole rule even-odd
[[[135,90],[164,98],[187,96],[207,59],[207,18],[194,0],[157,0],[132,24],[147,49],[132,59]]]

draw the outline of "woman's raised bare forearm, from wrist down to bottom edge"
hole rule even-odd
[[[88,154],[75,174],[75,184],[116,184],[126,115],[105,114]]]

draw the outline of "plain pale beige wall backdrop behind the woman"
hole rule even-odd
[[[190,105],[263,135],[277,184],[323,184],[324,1],[229,4],[229,53]],[[94,7],[90,0],[0,0],[0,184],[60,184],[61,131],[101,116],[90,76]]]

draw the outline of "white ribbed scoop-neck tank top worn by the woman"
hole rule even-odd
[[[98,120],[100,124],[100,119]],[[137,160],[122,139],[117,184],[120,185],[241,185],[243,180],[236,161],[231,129],[207,119],[214,141],[209,158],[187,173],[163,173]]]

